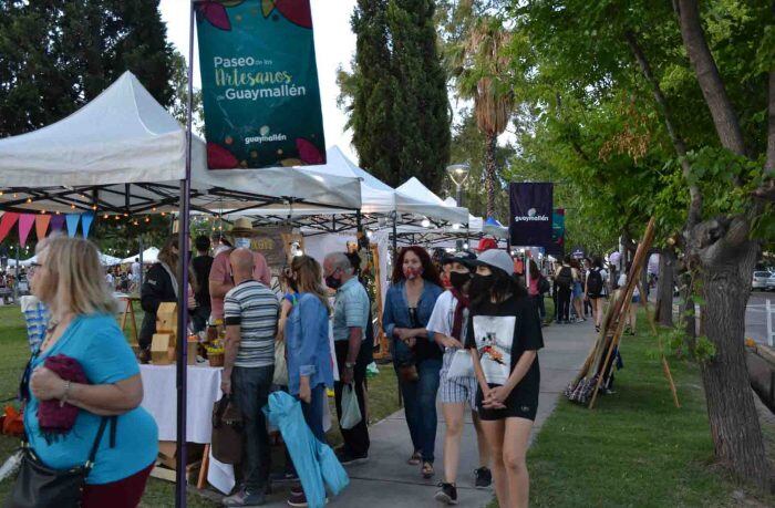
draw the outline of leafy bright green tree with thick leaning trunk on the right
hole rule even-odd
[[[707,353],[716,456],[769,489],[743,331],[751,271],[775,237],[771,2],[512,3],[540,62],[530,72],[540,76],[541,124],[575,153],[558,166],[562,176],[581,184],[591,168],[609,168],[603,191],[628,196],[626,214],[654,215],[663,238],[679,240],[702,308],[706,336],[690,345]],[[617,110],[617,97],[632,97],[636,116]]]

